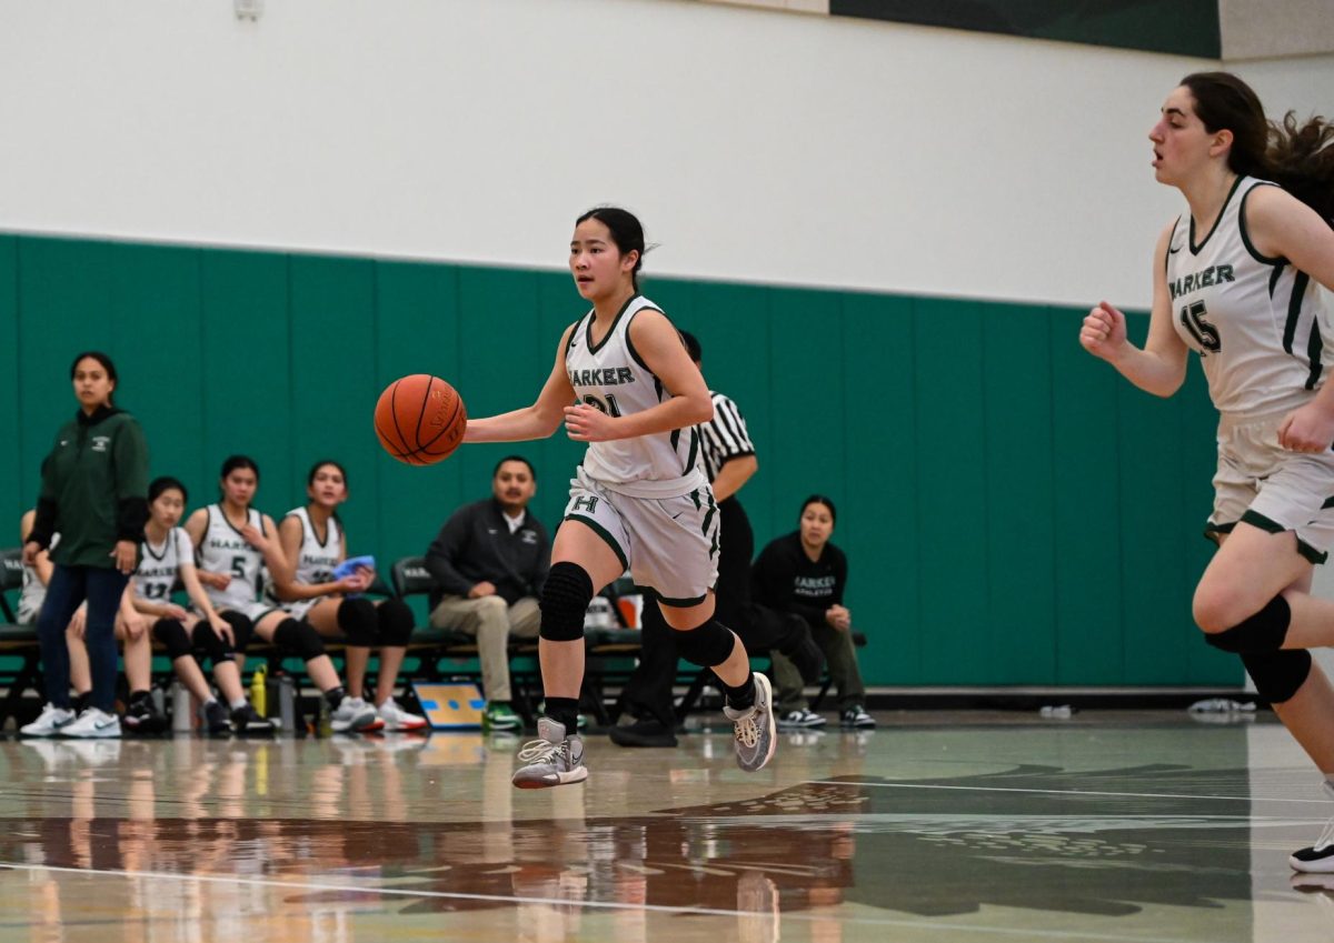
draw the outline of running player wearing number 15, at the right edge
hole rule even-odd
[[[1334,546],[1334,334],[1318,289],[1334,290],[1331,139],[1321,119],[1270,124],[1237,76],[1182,79],[1149,132],[1154,176],[1186,198],[1154,249],[1149,338],[1130,344],[1105,301],[1079,342],[1163,397],[1199,354],[1221,414],[1205,529],[1219,549],[1195,589],[1195,622],[1241,655],[1334,790],[1334,689],[1306,651],[1334,645],[1334,602],[1310,594],[1313,563]],[[1289,860],[1334,871],[1334,844]]]

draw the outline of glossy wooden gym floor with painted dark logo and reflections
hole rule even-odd
[[[590,735],[0,742],[0,940],[1334,939],[1334,814],[1271,718],[880,714],[675,750]]]

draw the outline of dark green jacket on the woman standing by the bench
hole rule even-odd
[[[116,541],[136,546],[143,541],[147,494],[148,446],[135,417],[108,406],[92,416],[80,409],[60,428],[41,462],[41,495],[29,539],[47,547],[59,531],[52,562],[109,569]]]

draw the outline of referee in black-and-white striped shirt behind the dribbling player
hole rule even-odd
[[[699,340],[686,330],[680,332],[680,338],[690,358],[699,366],[703,353]],[[714,418],[696,426],[696,430],[719,514],[715,618],[732,629],[751,653],[778,649],[807,682],[815,682],[824,667],[824,657],[811,639],[806,622],[800,617],[751,605],[750,563],[755,554],[755,535],[736,493],[755,474],[759,460],[736,404],[722,393],[710,390],[708,396],[714,401]],[[675,635],[658,606],[644,606],[639,665],[626,682],[626,710],[638,719],[628,727],[612,727],[612,743],[676,746],[672,699],[678,661]]]

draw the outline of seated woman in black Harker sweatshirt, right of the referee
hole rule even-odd
[[[839,721],[844,727],[864,730],[874,727],[875,721],[863,709],[866,686],[852,645],[852,614],[843,605],[847,557],[830,542],[836,518],[832,501],[820,494],[808,497],[802,503],[798,529],[770,541],[756,558],[751,593],[756,602],[799,615],[810,626],[838,686]],[[780,727],[824,725],[824,718],[807,707],[802,675],[776,651],[774,679]]]

